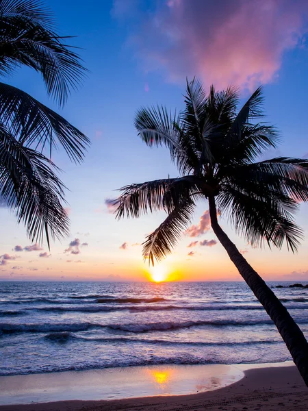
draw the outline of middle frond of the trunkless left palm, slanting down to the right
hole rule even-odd
[[[0,83],[0,119],[15,138],[27,147],[52,149],[61,145],[68,157],[80,162],[90,140],[62,116],[26,92]]]

